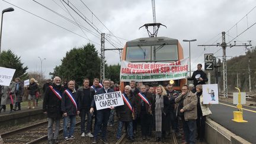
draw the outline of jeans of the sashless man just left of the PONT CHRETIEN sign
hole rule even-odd
[[[87,115],[87,128],[85,130],[85,117]],[[92,116],[89,110],[82,109],[80,110],[80,117],[81,117],[81,133],[89,133],[92,124]]]

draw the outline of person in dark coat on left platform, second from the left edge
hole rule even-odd
[[[16,103],[14,110],[21,110],[20,103],[23,101],[23,95],[24,95],[24,83],[21,82],[20,78],[15,78],[15,94],[16,94]]]

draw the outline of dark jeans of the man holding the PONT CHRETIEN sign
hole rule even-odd
[[[107,123],[108,123],[109,116],[110,116],[110,110],[108,108],[97,111],[97,121],[96,121],[95,130],[94,130],[94,139],[98,138],[98,133],[100,132],[100,129],[101,129],[101,137],[102,138],[106,137]]]

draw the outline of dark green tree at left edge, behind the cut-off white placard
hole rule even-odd
[[[20,57],[15,55],[11,50],[3,51],[0,57],[0,66],[5,68],[16,69],[13,78],[21,78],[23,80],[28,78],[27,66],[23,66]]]

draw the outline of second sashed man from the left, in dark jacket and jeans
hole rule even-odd
[[[65,141],[75,139],[73,132],[75,130],[76,115],[80,113],[78,96],[75,91],[75,82],[68,82],[68,89],[63,92],[62,95],[62,112],[63,112],[63,135]],[[70,120],[69,132],[68,123]]]

